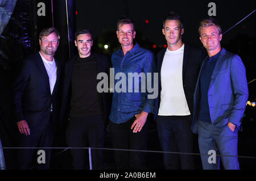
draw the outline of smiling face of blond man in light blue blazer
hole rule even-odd
[[[200,40],[203,43],[205,49],[209,56],[214,56],[221,50],[220,41],[222,39],[222,34],[219,33],[216,26],[204,27],[200,32]]]

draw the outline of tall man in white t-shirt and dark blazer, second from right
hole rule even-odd
[[[170,12],[163,20],[167,48],[158,53],[159,96],[155,120],[163,151],[193,153],[191,131],[193,91],[200,69],[201,49],[183,43],[179,15]],[[165,169],[195,169],[192,154],[164,153]]]

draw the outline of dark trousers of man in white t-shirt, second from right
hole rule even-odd
[[[193,153],[193,136],[191,131],[192,117],[157,116],[156,126],[160,145],[163,151]],[[164,153],[164,168],[195,169],[192,154]]]

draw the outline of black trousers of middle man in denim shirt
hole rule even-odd
[[[147,150],[148,123],[141,132],[133,133],[131,125],[136,117],[126,123],[109,123],[109,131],[114,149]],[[146,153],[142,151],[114,151],[116,169],[147,169]]]

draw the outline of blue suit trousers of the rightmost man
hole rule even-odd
[[[212,123],[198,121],[199,150],[204,170],[220,169],[220,157],[216,157],[216,163],[209,163],[209,150],[220,153],[224,169],[239,170],[237,157],[238,129],[231,131],[228,124],[225,127],[217,128]],[[229,157],[235,156],[235,157]]]

